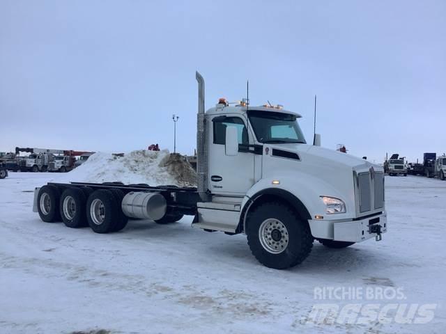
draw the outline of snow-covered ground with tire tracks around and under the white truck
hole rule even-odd
[[[245,236],[192,229],[189,217],[114,234],[43,223],[32,191],[59,177],[0,180],[0,333],[445,333],[446,182],[387,177],[383,241],[316,243],[302,265],[277,271],[256,262]],[[404,299],[321,301],[318,287],[403,289]],[[320,303],[436,306],[428,324],[306,322]]]

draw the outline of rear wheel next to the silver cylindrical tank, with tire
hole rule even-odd
[[[118,221],[118,208],[112,191],[95,190],[86,201],[86,217],[96,233],[113,232]]]

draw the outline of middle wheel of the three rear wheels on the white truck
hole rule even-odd
[[[63,223],[68,228],[83,228],[88,225],[86,219],[86,196],[79,188],[67,188],[60,201],[60,212]]]

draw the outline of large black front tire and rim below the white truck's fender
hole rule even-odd
[[[313,246],[307,221],[279,202],[267,202],[254,208],[247,218],[246,234],[254,257],[274,269],[300,264]]]

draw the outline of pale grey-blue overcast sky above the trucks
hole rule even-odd
[[[0,150],[195,148],[206,108],[246,95],[307,141],[383,161],[446,151],[446,1],[0,0]]]

